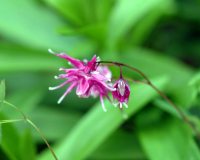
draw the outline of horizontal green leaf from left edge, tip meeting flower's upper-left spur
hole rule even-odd
[[[0,44],[0,71],[44,71],[53,70],[61,63],[51,56],[47,49],[46,54],[38,50],[30,50],[11,44]]]

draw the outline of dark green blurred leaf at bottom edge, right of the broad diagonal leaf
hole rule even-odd
[[[135,134],[117,130],[89,157],[95,160],[145,159]]]

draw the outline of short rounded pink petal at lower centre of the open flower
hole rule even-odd
[[[79,82],[79,85],[76,90],[76,94],[78,96],[84,96],[87,92],[87,89],[89,88],[89,83],[85,78],[82,78]]]

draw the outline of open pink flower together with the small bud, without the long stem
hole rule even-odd
[[[90,96],[99,97],[102,108],[106,112],[104,98],[109,98],[109,93],[117,101],[120,108],[124,105],[126,108],[130,89],[126,80],[122,76],[112,84],[112,74],[107,66],[102,66],[99,57],[93,56],[90,61],[75,59],[65,53],[56,54],[52,50],[50,53],[67,60],[72,68],[60,68],[64,73],[55,76],[55,79],[64,79],[64,82],[56,87],[49,87],[49,90],[55,90],[69,84],[64,94],[58,100],[61,103],[66,95],[76,88],[76,94],[79,97],[87,98]]]

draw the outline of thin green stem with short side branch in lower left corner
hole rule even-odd
[[[7,102],[7,101],[3,101],[4,104],[7,104],[8,106],[14,108],[15,110],[17,110],[23,117],[23,120],[25,120],[28,124],[30,124],[35,130],[36,132],[38,132],[38,134],[41,136],[41,138],[43,139],[43,141],[45,142],[45,144],[47,145],[47,147],[49,148],[52,156],[54,157],[55,160],[58,160],[55,152],[53,151],[52,147],[50,146],[50,144],[48,143],[47,139],[45,138],[45,136],[43,135],[43,133],[40,131],[40,129],[15,105]],[[19,119],[20,120],[20,119]],[[13,122],[19,121],[19,120],[13,120]],[[5,121],[5,120],[4,120]],[[7,123],[11,122],[12,120],[9,120]],[[6,121],[5,121],[6,122]]]

